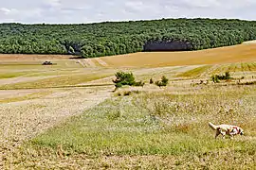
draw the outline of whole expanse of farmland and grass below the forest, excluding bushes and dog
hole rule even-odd
[[[255,169],[255,51],[0,55],[0,169]],[[114,92],[118,71],[145,86]],[[161,76],[167,87],[149,83]],[[209,121],[245,136],[215,140]]]

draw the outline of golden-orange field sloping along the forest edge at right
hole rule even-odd
[[[240,44],[190,52],[135,53],[101,58],[101,60],[113,67],[162,67],[248,62],[256,60],[256,44]]]

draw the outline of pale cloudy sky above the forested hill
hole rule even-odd
[[[94,23],[185,17],[256,20],[256,0],[0,0],[0,23]]]

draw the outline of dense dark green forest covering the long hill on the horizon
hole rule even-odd
[[[94,58],[140,52],[146,44],[154,43],[184,42],[187,45],[183,50],[200,50],[250,40],[256,40],[255,21],[162,19],[84,25],[0,25],[3,54],[74,54]]]

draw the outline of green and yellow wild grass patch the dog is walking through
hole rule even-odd
[[[61,154],[61,158],[75,160],[86,155],[91,168],[105,165],[123,168],[129,163],[135,168],[138,160],[146,168],[186,168],[187,161],[191,161],[193,168],[226,169],[229,164],[219,164],[225,160],[229,160],[232,163],[229,167],[233,168],[254,167],[256,86],[207,87],[192,91],[188,94],[133,93],[108,99],[24,145],[25,154],[34,155],[32,158],[27,155],[27,162],[42,157],[56,161]],[[209,121],[244,127],[246,136],[237,136],[232,141],[215,140]],[[105,156],[110,158],[102,161]],[[125,157],[130,160],[120,164]],[[159,162],[149,161],[152,158]],[[174,162],[160,161],[166,158]]]

